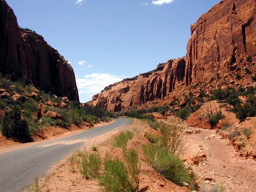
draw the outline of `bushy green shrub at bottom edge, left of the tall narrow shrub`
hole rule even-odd
[[[104,171],[99,178],[99,185],[105,192],[132,192],[132,182],[129,180],[128,170],[120,159],[107,158],[104,161]]]

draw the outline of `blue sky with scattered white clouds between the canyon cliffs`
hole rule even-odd
[[[190,25],[219,0],[6,0],[20,27],[74,68],[80,102],[183,57]]]

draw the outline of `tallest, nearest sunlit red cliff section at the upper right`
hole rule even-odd
[[[256,54],[256,1],[222,0],[191,25],[185,83],[207,80]]]

